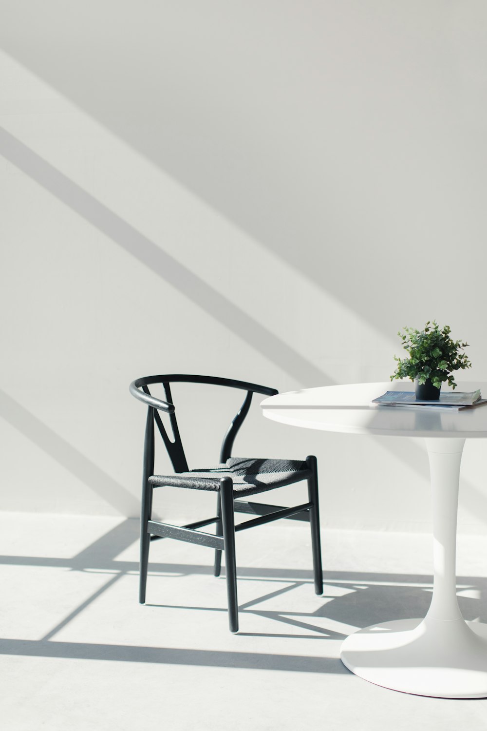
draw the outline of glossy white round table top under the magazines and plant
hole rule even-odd
[[[487,398],[487,383],[459,382],[458,391],[480,388]],[[487,437],[487,404],[475,409],[420,409],[378,406],[372,399],[386,391],[413,391],[410,381],[356,383],[307,388],[279,393],[261,402],[268,419],[292,426],[351,434],[427,437]],[[445,392],[442,387],[442,393]]]

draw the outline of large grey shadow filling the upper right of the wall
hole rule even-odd
[[[352,298],[376,327],[394,317],[383,303],[396,279],[361,295],[391,240],[437,266],[432,230],[448,254],[472,221],[474,238],[483,226],[475,146],[463,139],[475,145],[481,128],[463,111],[483,96],[475,69],[485,51],[470,55],[467,40],[483,26],[481,4],[433,2],[419,16],[395,4],[377,18],[367,3],[191,0],[141,11],[45,0],[28,24],[22,4],[4,5],[8,53],[319,287],[348,306]],[[424,269],[415,272],[423,298]]]

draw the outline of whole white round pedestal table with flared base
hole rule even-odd
[[[487,383],[464,384],[461,390]],[[359,383],[281,393],[262,401],[264,416],[323,431],[421,436],[429,455],[433,504],[433,594],[426,617],[376,624],[342,644],[341,658],[361,678],[405,693],[487,697],[487,624],[467,622],[456,599],[456,514],[461,453],[467,438],[487,438],[487,404],[475,409],[377,406],[387,390],[410,382]]]

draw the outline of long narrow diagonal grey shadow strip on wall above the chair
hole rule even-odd
[[[199,276],[160,249],[156,243],[1,127],[0,154],[298,382],[321,385],[330,382],[320,368],[275,336],[271,330],[210,287]]]

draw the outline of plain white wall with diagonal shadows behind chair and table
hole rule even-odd
[[[0,0],[0,18],[1,507],[137,514],[137,376],[386,380],[399,327],[436,317],[486,379],[485,4]],[[199,432],[190,395],[199,466],[239,394],[211,392]],[[421,442],[256,408],[236,443],[310,452],[323,525],[427,529]],[[483,452],[465,450],[462,531],[486,527]]]

